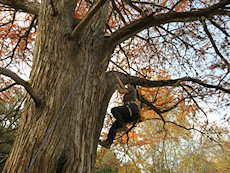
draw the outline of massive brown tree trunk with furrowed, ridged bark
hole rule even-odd
[[[78,38],[73,29],[75,1],[43,0],[31,74],[33,87],[43,100],[36,107],[28,97],[18,136],[3,172],[25,173],[57,118],[69,93],[103,35],[106,9],[97,12],[88,29]],[[108,6],[108,4],[106,5]],[[104,6],[104,7],[106,7]],[[30,172],[92,172],[100,130],[109,102],[106,56],[103,45],[79,81]]]

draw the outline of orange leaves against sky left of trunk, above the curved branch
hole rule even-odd
[[[15,65],[21,63],[21,60],[28,64],[29,56],[32,55],[30,49],[35,41],[34,25],[30,26],[33,16],[3,10],[0,17],[3,19],[0,20],[1,66],[9,65],[15,57]]]

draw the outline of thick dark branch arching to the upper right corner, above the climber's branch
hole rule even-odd
[[[201,16],[211,17],[220,12],[220,8],[225,7],[226,5],[230,4],[229,0],[223,0],[219,3],[200,9],[197,11],[190,11],[190,12],[168,12],[165,14],[160,14],[157,16],[149,15],[143,18],[140,18],[125,27],[119,29],[118,31],[114,32],[112,36],[109,38],[110,42],[118,45],[119,43],[125,41],[131,36],[134,36],[138,32],[147,29],[149,27],[162,25],[170,22],[191,22],[200,20]]]

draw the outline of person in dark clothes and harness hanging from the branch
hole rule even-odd
[[[137,90],[136,85],[133,83],[128,84],[128,88],[124,86],[118,75],[114,74],[118,83],[116,87],[120,94],[124,94],[123,97],[123,106],[114,107],[111,109],[111,113],[113,114],[116,120],[112,124],[107,139],[105,141],[100,141],[99,144],[105,148],[110,148],[113,143],[113,140],[116,136],[116,133],[121,131],[128,131],[126,123],[136,122],[140,119],[139,113],[139,104],[136,102],[137,98]]]

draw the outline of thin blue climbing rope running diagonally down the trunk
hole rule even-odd
[[[77,87],[77,85],[78,85],[78,83],[79,83],[79,81],[80,81],[81,77],[82,77],[82,76],[83,76],[83,74],[85,73],[85,71],[86,71],[86,69],[88,68],[88,66],[89,66],[89,64],[90,64],[90,62],[91,62],[91,60],[92,60],[92,58],[94,57],[94,55],[95,55],[95,53],[96,53],[96,51],[97,51],[98,47],[100,46],[100,44],[101,44],[102,40],[103,40],[105,37],[106,37],[106,36],[103,36],[103,37],[102,37],[102,38],[98,41],[98,43],[97,43],[97,47],[96,47],[96,48],[95,48],[95,50],[93,51],[93,53],[92,53],[91,57],[89,58],[88,63],[86,64],[86,66],[84,67],[84,69],[83,69],[83,71],[81,72],[80,76],[78,77],[76,84],[74,85],[73,89],[71,90],[71,92],[70,92],[70,94],[69,94],[68,98],[66,99],[66,101],[65,101],[64,105],[62,106],[61,111],[59,112],[59,114],[58,114],[57,118],[55,119],[55,121],[54,121],[54,123],[53,123],[53,125],[52,125],[52,127],[50,128],[50,130],[49,130],[48,134],[46,135],[46,137],[45,137],[45,139],[44,139],[44,141],[43,141],[42,145],[40,146],[40,148],[39,148],[39,150],[38,150],[37,154],[35,155],[35,157],[34,157],[34,159],[33,159],[32,163],[30,164],[30,166],[29,166],[29,168],[28,168],[28,170],[27,170],[27,173],[29,173],[30,169],[32,168],[33,164],[35,163],[35,161],[36,161],[36,159],[37,159],[37,157],[38,157],[38,154],[39,154],[39,153],[40,153],[40,151],[42,150],[42,148],[43,148],[43,146],[44,146],[44,144],[45,144],[46,140],[48,139],[49,135],[51,134],[51,131],[53,130],[53,128],[54,128],[54,126],[56,125],[56,123],[57,123],[57,121],[58,121],[58,119],[59,119],[59,117],[60,117],[61,113],[63,112],[63,110],[64,110],[64,108],[65,108],[65,106],[66,106],[67,102],[69,101],[69,99],[70,99],[71,95],[73,94],[73,92],[74,92],[75,88]]]

